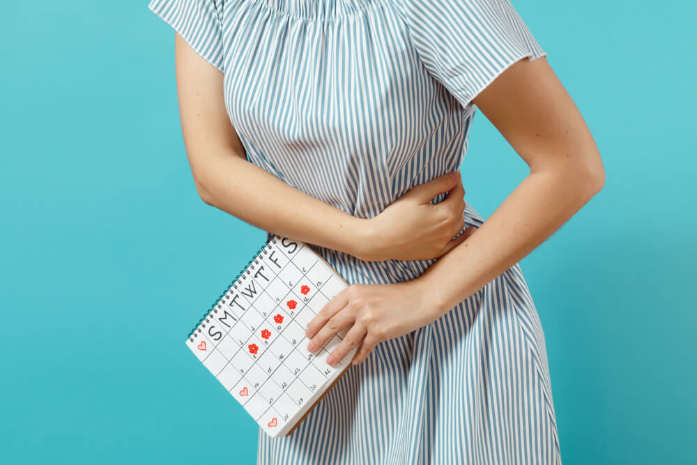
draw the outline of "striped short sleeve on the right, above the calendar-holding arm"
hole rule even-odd
[[[546,56],[510,0],[395,0],[424,66],[470,105],[522,58]]]

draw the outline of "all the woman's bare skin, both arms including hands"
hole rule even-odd
[[[175,37],[183,137],[206,204],[365,260],[438,258],[414,280],[351,284],[320,310],[307,327],[308,350],[349,328],[330,354],[334,363],[356,346],[352,362],[361,363],[379,342],[443,316],[535,250],[604,185],[590,130],[546,58],[521,59],[473,100],[530,167],[481,227],[452,239],[463,225],[464,188],[447,175],[416,186],[375,218],[355,218],[247,162],[225,111],[222,72]],[[446,199],[429,204],[440,192],[449,192]]]

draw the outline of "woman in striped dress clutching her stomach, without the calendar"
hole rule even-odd
[[[559,464],[544,335],[517,262],[604,174],[510,1],[149,8],[177,32],[201,198],[311,244],[351,284],[307,336],[311,350],[350,328],[332,356],[359,346],[355,365],[293,434],[259,432],[257,462]],[[486,222],[457,174],[476,108],[530,166]]]

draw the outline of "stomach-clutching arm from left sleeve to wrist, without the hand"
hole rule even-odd
[[[350,254],[367,243],[355,218],[247,162],[224,105],[223,73],[175,34],[176,82],[187,157],[199,196],[266,231]]]

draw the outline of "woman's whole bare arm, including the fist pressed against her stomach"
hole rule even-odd
[[[194,183],[206,204],[280,236],[364,260],[441,257],[464,241],[459,173],[415,186],[374,218],[355,218],[247,162],[224,105],[223,73],[176,34],[179,112]],[[442,192],[447,198],[430,201]]]

